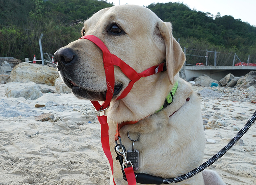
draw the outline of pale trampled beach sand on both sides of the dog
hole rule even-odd
[[[52,93],[36,100],[6,98],[4,86],[0,85],[1,185],[109,184],[111,174],[100,144],[100,125],[89,101]],[[202,96],[204,127],[211,128],[204,130],[206,161],[250,118],[256,108],[251,103],[255,93],[240,96],[234,88],[193,88]],[[45,107],[35,108],[35,104]],[[53,114],[54,119],[35,121],[35,116],[43,113]],[[213,128],[217,123],[221,126]],[[208,169],[217,171],[230,185],[256,184],[255,124]]]

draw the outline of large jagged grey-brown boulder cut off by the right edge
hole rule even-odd
[[[248,88],[250,86],[256,87],[256,71],[250,71],[250,73],[241,77],[235,87]]]

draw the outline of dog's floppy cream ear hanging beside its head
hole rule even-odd
[[[175,83],[173,78],[182,68],[186,57],[180,44],[172,36],[171,23],[159,22],[157,28],[165,43],[167,72],[169,81],[173,85]]]

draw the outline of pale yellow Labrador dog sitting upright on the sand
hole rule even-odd
[[[200,99],[179,77],[185,55],[172,36],[171,23],[163,22],[145,7],[120,5],[102,9],[85,21],[82,35],[98,37],[112,54],[138,73],[166,61],[166,71],[140,78],[122,99],[117,97],[130,79],[119,67],[114,67],[115,87],[106,115],[115,183],[127,185],[114,151],[117,124],[125,121],[139,120],[120,129],[126,150],[134,147],[140,152],[136,173],[172,178],[201,165],[205,136]],[[78,39],[60,48],[54,57],[63,81],[75,96],[105,101],[106,76],[98,46],[87,39]],[[177,89],[175,84],[178,84]],[[172,93],[172,103],[158,111],[172,90],[176,91]],[[127,133],[132,140],[139,140],[132,142]],[[225,183],[214,171],[204,170],[178,184]]]

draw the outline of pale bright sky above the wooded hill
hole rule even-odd
[[[141,5],[148,6],[152,3],[179,2],[188,5],[190,9],[201,12],[210,12],[212,15],[232,15],[252,26],[256,26],[256,0],[108,0],[114,5]]]

